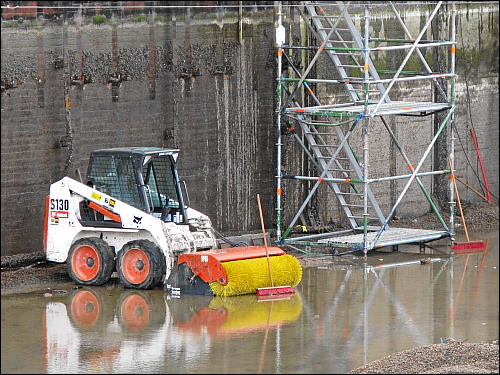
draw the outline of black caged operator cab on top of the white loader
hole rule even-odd
[[[156,147],[93,151],[87,184],[163,221],[186,223],[176,168],[178,152]]]

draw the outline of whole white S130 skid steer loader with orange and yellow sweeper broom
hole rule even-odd
[[[226,239],[234,247],[216,238],[210,218],[186,202],[178,154],[153,147],[96,150],[85,183],[64,177],[51,184],[47,260],[66,262],[82,285],[102,285],[116,271],[127,288],[163,283],[177,293],[251,294],[274,281],[296,286],[302,268],[282,249],[255,245],[252,236]]]

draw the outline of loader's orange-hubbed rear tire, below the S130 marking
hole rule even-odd
[[[115,253],[98,237],[80,238],[71,245],[66,263],[77,284],[102,285],[115,270]]]

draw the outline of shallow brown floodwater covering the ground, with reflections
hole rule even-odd
[[[280,300],[174,298],[115,283],[2,296],[1,370],[346,373],[448,338],[498,342],[498,230],[471,238],[488,251],[450,257],[438,241],[425,254],[336,257],[304,269],[297,293]]]

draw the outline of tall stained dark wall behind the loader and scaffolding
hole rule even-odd
[[[498,196],[498,55],[491,53],[498,47],[498,6],[490,8],[460,15],[467,21],[464,58],[471,63],[459,62],[458,73],[468,67],[474,127],[488,157],[490,188]],[[179,148],[179,173],[191,204],[208,214],[218,230],[258,230],[257,193],[266,227],[273,228],[275,10],[243,8],[240,15],[237,7],[122,8],[97,15],[102,14],[106,19],[99,23],[95,11],[82,9],[65,15],[39,9],[36,18],[23,19],[3,10],[2,255],[41,249],[50,183],[64,175],[78,179],[77,170],[86,172],[90,151],[105,147]],[[287,10],[285,20],[293,29],[297,14]],[[467,120],[461,77],[458,126]],[[408,88],[414,97],[429,91],[413,89]],[[412,155],[421,149],[415,140],[426,144],[432,134],[425,121],[395,126]],[[461,129],[465,141],[466,128]],[[388,139],[380,137],[372,167],[384,174],[391,153]],[[468,156],[475,157],[470,141]],[[290,171],[308,168],[288,141],[284,163]],[[463,165],[474,184],[472,169]],[[285,194],[289,219],[305,190],[294,187]],[[318,199],[321,205],[321,195]],[[421,203],[415,198],[403,213],[427,210]],[[337,220],[335,210],[326,211],[325,222]]]

